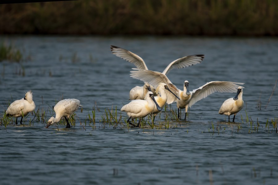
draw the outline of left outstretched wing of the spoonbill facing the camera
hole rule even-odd
[[[172,84],[172,82],[167,78],[165,74],[157,71],[142,70],[136,68],[132,69],[136,71],[131,71],[131,77],[144,82],[148,82],[149,84],[154,86],[154,88],[157,88],[159,83],[165,83],[172,92],[179,96],[179,89],[174,84]],[[175,97],[171,92],[166,91],[166,93],[168,104],[173,103],[177,100],[177,97]]]

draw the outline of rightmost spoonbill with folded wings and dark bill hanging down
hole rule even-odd
[[[238,87],[237,95],[234,98],[229,98],[223,102],[219,109],[219,114],[224,114],[229,116],[229,122],[230,122],[230,115],[235,115],[242,109],[244,105],[244,101],[242,100],[242,94],[243,94],[243,87]],[[234,119],[233,119],[234,122]]]

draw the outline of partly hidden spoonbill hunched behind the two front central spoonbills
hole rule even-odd
[[[147,82],[144,84],[143,88],[140,86],[136,86],[130,90],[128,100],[144,100],[148,91],[155,91],[153,86],[152,88],[153,89],[150,88],[150,84]]]

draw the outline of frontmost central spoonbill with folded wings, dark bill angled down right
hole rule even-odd
[[[121,111],[127,113],[129,117],[127,122],[129,124],[138,127],[141,122],[141,118],[146,117],[147,115],[152,113],[154,111],[155,106],[158,109],[158,111],[162,110],[154,99],[154,93],[149,91],[145,96],[145,100],[132,100],[128,104],[124,105],[121,108]],[[133,123],[131,123],[129,121],[131,118],[139,118],[138,125],[134,125]]]

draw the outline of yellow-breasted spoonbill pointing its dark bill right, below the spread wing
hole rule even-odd
[[[157,88],[155,89],[155,92],[157,95],[159,96],[155,96],[154,99],[155,101],[158,103],[159,107],[163,108],[163,106],[166,104],[167,101],[167,94],[166,94],[166,90],[168,90],[169,92],[171,92],[177,99],[179,99],[179,97],[177,97],[167,86],[167,84],[165,83],[159,83]],[[153,111],[153,116],[155,118],[155,116],[160,112],[160,110],[158,110],[156,107],[154,108]],[[153,120],[154,120],[153,118]]]

